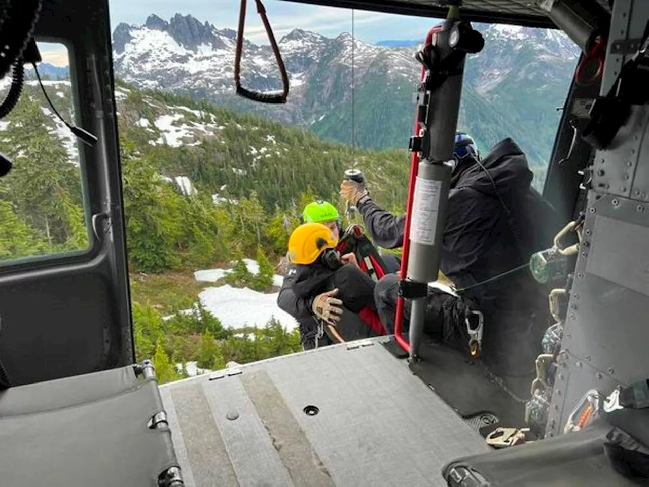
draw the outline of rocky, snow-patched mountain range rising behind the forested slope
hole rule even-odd
[[[533,163],[549,156],[578,49],[559,31],[476,25],[482,53],[467,61],[460,123],[488,149],[512,136]],[[142,88],[208,99],[310,127],[324,138],[363,147],[405,147],[411,131],[411,93],[419,77],[414,42],[372,45],[347,33],[328,38],[295,29],[278,45],[289,73],[289,103],[268,107],[234,95],[236,32],[192,16],[169,21],[151,15],[143,25],[117,25],[117,77]],[[352,60],[354,80],[352,81]],[[245,42],[242,82],[258,91],[281,88],[268,45]],[[354,120],[352,123],[352,86]],[[537,127],[539,121],[547,127]]]

